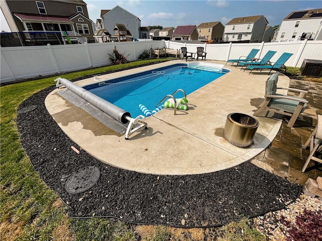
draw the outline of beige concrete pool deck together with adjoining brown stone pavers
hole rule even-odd
[[[136,73],[176,62],[171,61],[100,76],[100,80]],[[207,61],[225,64],[220,61]],[[75,143],[97,159],[112,166],[152,174],[199,174],[229,168],[239,163],[252,162],[276,175],[304,184],[308,177],[320,176],[320,169],[300,172],[308,150],[301,150],[312,128],[316,112],[321,112],[317,99],[320,84],[291,81],[290,86],[306,88],[310,92],[305,122],[287,128],[281,116],[256,117],[260,127],[254,143],[248,148],[237,148],[223,139],[227,114],[241,112],[252,115],[263,100],[267,72],[247,71],[227,65],[231,71],[212,83],[188,95],[188,111],[164,109],[145,119],[148,129],[125,140],[82,109],[63,99],[56,89],[45,104],[60,128]],[[94,78],[77,81],[77,85],[94,82]],[[288,87],[289,78],[280,75],[278,86]],[[206,101],[205,101],[206,99]],[[312,104],[311,104],[312,102]],[[314,107],[315,106],[315,107]],[[263,113],[264,116],[265,113]],[[316,121],[315,121],[316,122]],[[291,145],[290,145],[291,143]],[[312,163],[310,164],[312,165]]]

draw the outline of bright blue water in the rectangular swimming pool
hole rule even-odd
[[[227,73],[188,68],[187,64],[175,64],[138,74],[83,86],[83,88],[130,112],[132,117],[142,114],[139,104],[153,110],[167,94],[183,89],[190,94]],[[182,92],[176,98],[184,97]],[[189,100],[189,96],[187,97]]]

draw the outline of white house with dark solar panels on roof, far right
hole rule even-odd
[[[283,19],[276,41],[322,40],[321,23],[322,9],[292,12]]]

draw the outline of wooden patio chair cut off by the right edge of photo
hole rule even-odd
[[[308,144],[310,144],[310,154],[306,159],[306,162],[302,168],[302,172],[305,172],[305,169],[307,168],[307,165],[310,162],[310,160],[322,163],[322,159],[314,157],[315,153],[317,153],[318,155],[322,155],[322,115],[320,114],[317,115],[317,125],[310,137],[308,138],[308,140],[306,141],[303,149],[305,149],[308,146]]]

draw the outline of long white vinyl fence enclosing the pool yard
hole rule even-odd
[[[94,43],[75,45],[47,45],[28,47],[1,47],[1,79],[0,83],[18,79],[42,77],[75,70],[109,65],[112,62],[108,53],[114,47],[128,55],[129,61],[138,59],[145,50],[152,47],[180,49],[187,47],[188,52],[196,52],[197,47],[204,47],[207,59],[227,61],[246,56],[253,49],[260,49],[257,58],[263,57],[267,51],[277,53],[271,59],[275,62],[282,53],[293,53],[286,66],[300,67],[303,59],[322,60],[322,41],[294,41],[274,43],[225,43],[225,44],[187,44],[172,41],[133,41],[115,43]]]

